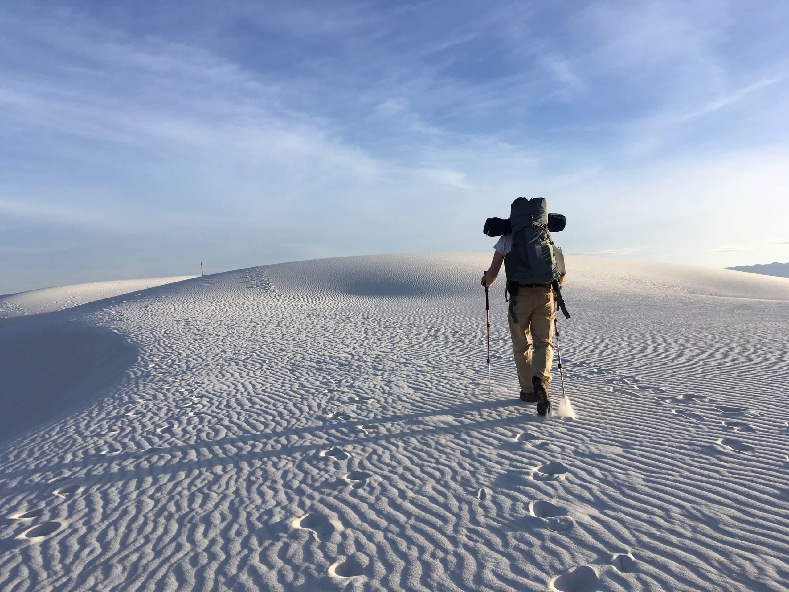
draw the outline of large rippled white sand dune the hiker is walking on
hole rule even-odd
[[[542,420],[503,282],[487,392],[489,260],[270,265],[0,328],[4,592],[787,590],[789,280],[570,257],[577,418]]]

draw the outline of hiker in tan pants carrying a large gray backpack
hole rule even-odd
[[[537,403],[537,414],[545,415],[551,410],[548,389],[551,386],[553,322],[558,296],[555,288],[564,285],[566,275],[563,268],[557,268],[555,250],[552,252],[551,249],[553,245],[547,227],[547,202],[540,198],[526,200],[520,197],[512,204],[510,219],[512,231],[503,234],[496,242],[491,266],[482,276],[482,285],[492,286],[499,276],[501,264],[505,264],[507,291],[510,293],[507,320],[521,386],[520,397],[527,403]],[[520,248],[513,252],[515,240],[518,240]],[[548,247],[525,248],[532,245]],[[545,260],[533,260],[532,257],[538,256],[527,256],[525,253],[540,253],[539,257]],[[546,253],[554,254],[549,257]],[[563,262],[560,267],[563,267]],[[517,278],[542,281],[520,282]]]

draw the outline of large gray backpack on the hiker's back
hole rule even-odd
[[[504,256],[508,283],[551,283],[564,275],[564,257],[548,232],[548,201],[518,197],[510,223],[512,250]]]

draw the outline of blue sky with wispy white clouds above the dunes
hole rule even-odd
[[[789,260],[787,2],[4,2],[0,27],[0,294],[488,250],[518,196],[567,215],[566,253]]]

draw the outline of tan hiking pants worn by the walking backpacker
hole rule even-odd
[[[514,310],[518,323],[513,322],[509,309],[507,320],[521,390],[534,391],[532,377],[541,378],[547,389],[551,384],[553,320],[556,317],[553,291],[547,287],[521,286],[515,297]]]

